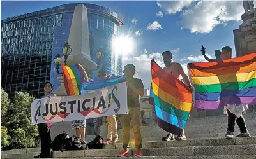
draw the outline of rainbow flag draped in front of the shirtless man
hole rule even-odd
[[[158,126],[180,135],[192,107],[192,92],[179,79],[165,72],[151,60],[151,94],[149,103],[154,106]]]

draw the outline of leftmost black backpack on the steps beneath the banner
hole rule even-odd
[[[50,145],[50,148],[53,150],[53,151],[62,151],[63,150],[63,147],[64,147],[64,144],[66,142],[66,139],[69,138],[69,135],[66,133],[66,132],[63,132],[59,135],[57,135],[55,138],[54,138],[54,141],[52,141],[52,144]]]

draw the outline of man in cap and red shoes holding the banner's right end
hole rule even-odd
[[[121,115],[121,122],[123,124],[123,152],[119,155],[130,156],[129,153],[129,141],[130,141],[130,124],[133,126],[133,133],[135,137],[136,151],[134,156],[141,156],[140,149],[142,148],[142,139],[140,133],[140,103],[139,96],[144,95],[144,85],[142,81],[138,78],[133,78],[135,74],[135,66],[133,64],[128,64],[124,66],[124,75],[127,81],[127,104],[128,104],[128,114]]]

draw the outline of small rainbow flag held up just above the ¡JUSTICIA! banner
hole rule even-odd
[[[82,74],[77,65],[62,65],[64,85],[68,95],[80,95],[80,85],[82,84]]]

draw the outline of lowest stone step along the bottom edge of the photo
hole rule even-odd
[[[97,149],[86,151],[54,152],[53,158],[116,157],[122,149]],[[39,152],[38,152],[39,153]],[[33,158],[38,153],[1,155],[1,158]],[[134,155],[135,149],[130,150]],[[169,148],[142,148],[142,156],[213,156],[256,155],[256,144],[225,146],[186,146]]]

